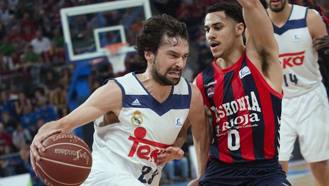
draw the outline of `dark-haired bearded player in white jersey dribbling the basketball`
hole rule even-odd
[[[135,49],[146,72],[108,81],[69,115],[42,126],[31,145],[34,170],[45,138],[93,120],[92,168],[83,185],[159,185],[164,162],[183,156],[189,122],[199,150],[208,150],[202,96],[181,77],[186,25],[167,15],[150,18]]]

